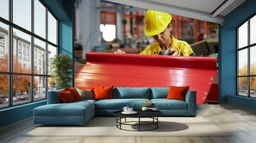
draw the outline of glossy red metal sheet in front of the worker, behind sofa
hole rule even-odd
[[[88,52],[86,60],[87,63],[76,70],[75,86],[189,86],[197,92],[198,104],[205,102],[216,75],[214,57]]]

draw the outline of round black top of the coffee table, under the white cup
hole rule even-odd
[[[136,110],[137,114],[122,114],[123,110],[114,112],[116,117],[159,117],[163,116],[163,112],[159,110]]]

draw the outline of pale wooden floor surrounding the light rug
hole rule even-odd
[[[256,142],[256,112],[230,104],[203,105],[199,117],[204,117],[223,130],[234,130],[228,137],[24,137],[33,125],[32,119],[25,119],[0,129],[0,142],[68,142],[68,143],[161,143],[161,142]],[[207,130],[202,128],[202,130]]]

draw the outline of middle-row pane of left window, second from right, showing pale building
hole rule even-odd
[[[45,42],[34,38],[34,73],[46,75]]]

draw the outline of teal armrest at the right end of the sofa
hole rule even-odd
[[[186,103],[188,103],[188,115],[196,115],[196,91],[188,91],[186,94]]]

